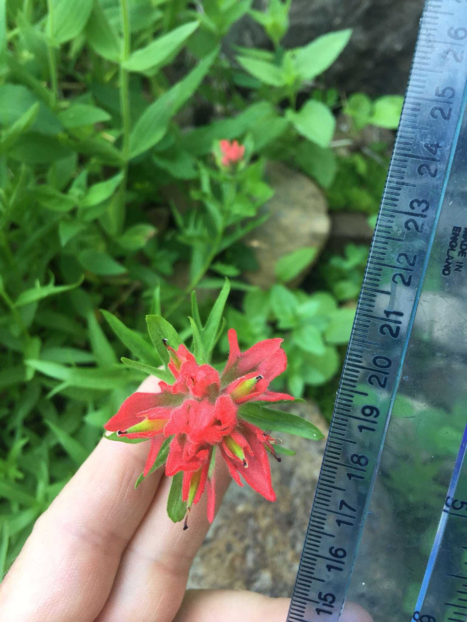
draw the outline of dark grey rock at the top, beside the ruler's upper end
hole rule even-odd
[[[261,8],[266,0],[255,0]],[[332,30],[353,28],[352,39],[326,72],[326,83],[347,93],[405,92],[423,0],[293,0],[283,44],[299,47]],[[232,43],[270,47],[259,24],[245,17],[230,31]]]

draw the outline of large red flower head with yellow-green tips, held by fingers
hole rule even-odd
[[[197,364],[184,345],[175,351],[166,340],[164,343],[171,356],[174,383],[160,382],[157,393],[133,393],[105,429],[129,439],[151,441],[144,477],[164,438],[171,437],[166,475],[182,471],[182,501],[187,501],[188,511],[207,488],[210,522],[214,519],[216,453],[224,458],[238,485],[243,486],[242,477],[263,497],[275,501],[268,460],[268,453],[275,455],[275,439],[243,420],[238,405],[293,399],[286,393],[268,391],[270,381],[287,366],[282,340],[260,341],[242,353],[237,333],[230,329],[229,359],[220,376],[212,366]]]

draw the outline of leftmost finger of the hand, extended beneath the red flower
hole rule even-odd
[[[150,377],[140,391],[159,390]],[[0,589],[3,622],[91,622],[161,473],[134,490],[148,443],[101,440],[42,514]]]

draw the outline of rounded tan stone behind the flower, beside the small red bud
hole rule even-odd
[[[316,261],[331,226],[326,200],[313,180],[280,162],[270,162],[267,177],[275,195],[259,213],[270,218],[247,238],[260,267],[245,274],[248,281],[264,288],[276,282],[275,264],[282,256],[314,246]]]

